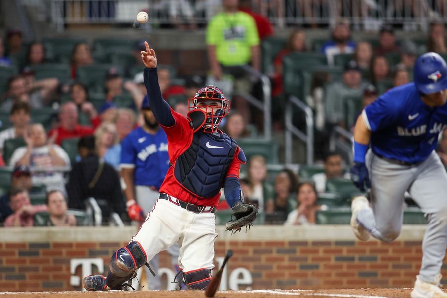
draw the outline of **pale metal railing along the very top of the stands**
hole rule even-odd
[[[217,0],[50,0],[51,20],[59,30],[73,23],[134,23],[141,10],[149,12],[149,24],[188,22],[206,24],[222,10]],[[329,24],[338,18],[354,26],[376,30],[380,24],[426,29],[428,21],[447,22],[446,0],[252,0],[252,10],[279,26]]]

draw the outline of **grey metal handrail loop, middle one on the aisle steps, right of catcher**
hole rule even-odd
[[[305,120],[306,120],[306,133],[299,130],[296,126],[294,126],[292,122],[293,118],[293,108],[297,107],[299,110],[304,112],[305,114]],[[285,149],[286,149],[286,164],[292,163],[292,135],[295,135],[306,143],[306,156],[307,164],[313,164],[313,150],[314,150],[314,136],[313,136],[313,112],[312,109],[306,105],[304,102],[299,100],[295,96],[289,97],[289,101],[286,104],[286,114],[285,114],[285,126],[286,126],[286,132],[285,132]]]

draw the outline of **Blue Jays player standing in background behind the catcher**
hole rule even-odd
[[[143,223],[159,197],[158,189],[169,169],[169,155],[166,133],[160,129],[150,109],[148,97],[141,105],[144,124],[134,129],[121,143],[121,176],[126,188],[129,218]],[[141,206],[141,207],[140,207]],[[178,271],[179,247],[177,244],[167,249],[172,258],[172,266]],[[158,255],[149,261],[150,268],[157,272]],[[148,269],[148,268],[146,268]],[[150,290],[161,290],[158,275],[153,276],[146,271]]]

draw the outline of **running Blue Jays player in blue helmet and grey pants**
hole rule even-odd
[[[391,242],[402,228],[404,193],[426,214],[422,265],[411,297],[447,297],[440,289],[447,244],[447,174],[434,149],[447,124],[447,66],[433,52],[414,65],[414,82],[393,88],[367,106],[354,129],[351,179],[365,196],[353,199],[351,227]],[[369,146],[371,148],[369,149]]]

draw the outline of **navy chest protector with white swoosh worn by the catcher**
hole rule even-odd
[[[196,132],[191,145],[174,165],[174,176],[184,188],[198,197],[217,195],[237,149],[225,134]]]

